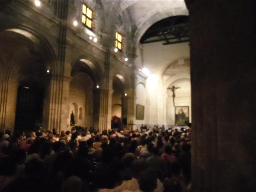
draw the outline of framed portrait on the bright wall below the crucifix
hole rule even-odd
[[[185,126],[189,123],[189,106],[175,107],[175,124]]]

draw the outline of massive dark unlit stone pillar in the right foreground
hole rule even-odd
[[[192,187],[256,190],[255,1],[187,0]]]

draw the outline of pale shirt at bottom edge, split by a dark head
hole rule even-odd
[[[132,178],[131,180],[124,181],[121,185],[117,186],[114,189],[101,189],[99,192],[140,192],[138,180]],[[157,188],[154,192],[163,192],[163,184],[159,179],[157,179]]]

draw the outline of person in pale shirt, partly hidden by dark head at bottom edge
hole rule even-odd
[[[131,164],[131,170],[133,173],[133,177],[131,180],[124,181],[120,186],[117,186],[114,189],[101,189],[99,192],[121,192],[124,190],[128,191],[139,191],[140,185],[139,185],[139,175],[144,170],[144,164],[141,160],[135,160]],[[152,170],[153,171],[153,170]],[[155,175],[155,173],[153,172]],[[160,180],[156,178],[156,187],[152,190],[152,192],[163,192],[163,184]]]

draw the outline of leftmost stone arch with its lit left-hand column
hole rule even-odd
[[[40,79],[44,81],[49,79],[46,78],[46,69],[50,70],[50,74],[56,72],[56,56],[48,40],[32,28],[11,26],[1,28],[0,34],[2,37],[0,43],[4,47],[4,52],[1,53],[4,59],[0,63],[0,129],[13,129],[16,116],[18,82],[28,77],[31,78],[33,75],[36,80]],[[36,63],[40,63],[40,69],[36,69]],[[30,64],[33,67],[30,67]],[[30,70],[26,71],[27,69]],[[41,69],[43,69],[41,72],[42,76],[36,78],[36,74],[39,74]],[[42,84],[46,85],[41,82]],[[43,112],[42,116],[44,117],[45,115],[47,115],[47,112]]]

